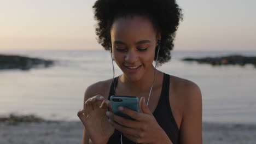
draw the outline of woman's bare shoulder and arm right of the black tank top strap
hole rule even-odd
[[[181,143],[202,143],[202,95],[196,83],[171,76],[170,88],[181,111]]]

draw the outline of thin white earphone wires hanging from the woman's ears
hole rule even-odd
[[[158,40],[158,41],[157,41],[157,44],[158,44],[158,53],[157,53],[157,55],[156,55],[156,61],[155,61],[154,79],[153,79],[153,83],[152,83],[152,86],[151,86],[150,91],[149,91],[147,106],[148,106],[149,98],[150,98],[150,95],[151,95],[151,92],[152,92],[152,89],[153,89],[153,86],[154,86],[154,82],[155,82],[155,71],[156,71],[156,65],[158,64],[158,55],[159,55],[161,40]],[[111,48],[111,50],[110,50],[110,56],[111,56],[111,59],[112,59],[114,95],[115,95],[115,81],[114,81],[115,70],[114,70],[114,62],[113,62],[112,48]],[[123,144],[122,139],[123,139],[123,134],[121,133],[121,136],[120,136],[120,142],[121,142],[121,144]]]

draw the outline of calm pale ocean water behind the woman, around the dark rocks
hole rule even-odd
[[[110,54],[104,50],[0,51],[53,59],[50,68],[0,70],[0,115],[34,114],[50,120],[79,121],[86,87],[113,77]],[[256,51],[172,51],[158,69],[195,82],[202,92],[203,122],[256,124],[256,68],[183,62],[184,57],[256,56]],[[115,76],[121,70],[115,65]],[[184,89],[185,91],[185,89]]]

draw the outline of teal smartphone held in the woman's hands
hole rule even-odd
[[[129,96],[118,96],[118,95],[112,95],[110,97],[111,106],[112,106],[112,112],[115,115],[125,117],[127,119],[135,120],[131,118],[130,116],[120,112],[118,110],[119,106],[127,107],[128,109],[131,109],[133,111],[139,112],[139,99],[138,97],[129,97]]]

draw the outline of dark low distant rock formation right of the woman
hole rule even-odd
[[[225,57],[205,57],[205,58],[184,58],[183,61],[196,61],[198,63],[207,63],[211,65],[246,65],[253,64],[256,68],[256,57],[245,57],[240,55]]]

